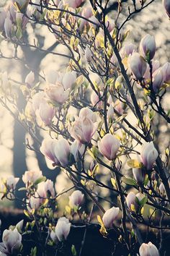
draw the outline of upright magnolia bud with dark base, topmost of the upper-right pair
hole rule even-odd
[[[145,59],[153,59],[156,53],[156,41],[153,35],[145,35],[140,41],[140,51]]]

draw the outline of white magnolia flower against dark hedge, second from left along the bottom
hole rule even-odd
[[[58,223],[55,226],[55,231],[51,231],[50,237],[53,242],[62,242],[67,239],[68,234],[70,233],[71,223],[69,223],[68,218],[61,217],[58,219]]]

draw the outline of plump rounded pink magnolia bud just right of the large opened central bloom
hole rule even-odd
[[[102,153],[108,160],[115,159],[117,151],[120,148],[120,141],[114,135],[104,135],[102,140],[98,142],[99,152]]]

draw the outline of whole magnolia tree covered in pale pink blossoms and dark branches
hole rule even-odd
[[[18,84],[27,101],[22,112],[17,109],[16,87],[5,70],[0,101],[39,145],[34,148],[27,140],[27,148],[45,155],[54,171],[72,182],[58,193],[42,171],[25,171],[24,187],[19,188],[25,197],[17,200],[22,200],[30,221],[4,230],[1,255],[48,255],[48,247],[53,255],[66,255],[65,243],[76,221],[85,227],[84,238],[79,250],[72,244],[72,255],[81,256],[86,230],[95,222],[101,236],[115,246],[122,244],[129,255],[168,253],[162,243],[169,230],[169,137],[158,140],[164,135],[158,120],[165,127],[170,123],[165,102],[170,63],[161,65],[154,59],[153,35],[144,35],[138,46],[126,43],[127,22],[156,4],[154,0],[130,2],[125,20],[120,19],[126,7],[121,1],[117,1],[115,19],[107,17],[110,2],[12,0],[0,13],[1,39],[12,43],[16,61],[23,61],[20,46],[45,51],[25,40],[28,24],[47,27],[65,46],[65,52],[50,54],[68,59],[66,69],[42,72],[38,82],[35,70],[30,70],[24,85]],[[170,1],[164,0],[163,5],[169,19]],[[7,58],[3,52],[1,58]],[[44,140],[40,141],[37,129],[43,131]],[[2,199],[16,199],[18,181],[14,176],[1,179]],[[62,214],[58,199],[66,195]],[[157,239],[146,238],[143,230],[156,232]],[[25,252],[23,241],[32,233],[37,244]]]

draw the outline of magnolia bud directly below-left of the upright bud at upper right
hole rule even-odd
[[[134,52],[128,57],[128,66],[137,80],[143,78],[146,72],[146,61],[142,56]]]

